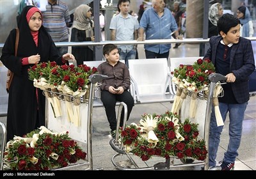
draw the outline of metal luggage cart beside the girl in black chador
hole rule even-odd
[[[89,80],[91,82],[90,85],[90,94],[88,100],[81,97],[81,107],[80,107],[80,116],[81,116],[81,127],[75,128],[74,125],[70,124],[67,121],[67,116],[65,113],[63,117],[54,118],[54,114],[52,112],[51,106],[47,105],[46,107],[46,126],[47,128],[61,132],[63,130],[69,131],[70,137],[78,142],[82,143],[82,147],[85,148],[87,153],[86,159],[83,162],[77,162],[76,164],[72,164],[67,167],[61,167],[52,170],[68,170],[68,169],[76,169],[79,170],[92,170],[93,169],[93,160],[92,160],[92,116],[93,116],[93,98],[94,91],[97,88],[99,81],[105,79],[106,75],[93,74],[90,75]],[[60,94],[58,94],[60,95]],[[63,94],[61,94],[63,95]],[[61,101],[61,105],[65,106],[65,101]],[[64,109],[62,110],[64,111]],[[83,115],[82,115],[83,114]],[[66,118],[66,119],[65,119]]]

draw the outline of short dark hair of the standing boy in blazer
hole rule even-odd
[[[240,20],[237,17],[230,13],[224,13],[217,22],[218,33],[220,34],[220,31],[223,31],[223,33],[227,34],[237,24],[240,24]]]

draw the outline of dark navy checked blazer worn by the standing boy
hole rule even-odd
[[[215,65],[215,58],[221,36],[210,38],[210,47],[204,56],[211,59]],[[248,89],[248,78],[255,70],[252,43],[250,40],[240,37],[239,43],[234,43],[230,52],[230,72],[236,76],[236,81],[231,84],[234,97],[238,103],[247,102],[250,98]],[[217,72],[218,73],[218,72]]]

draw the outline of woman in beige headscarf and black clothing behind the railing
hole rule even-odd
[[[92,12],[90,6],[81,4],[74,13],[70,42],[94,41]],[[78,65],[83,65],[83,61],[93,61],[93,47],[72,46],[72,54],[76,56]]]

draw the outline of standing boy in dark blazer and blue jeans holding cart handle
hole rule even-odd
[[[216,72],[225,75],[224,95],[219,97],[223,121],[229,115],[227,152],[221,162],[221,170],[234,168],[237,150],[241,143],[244,111],[250,99],[248,78],[255,70],[252,42],[240,36],[240,21],[230,13],[223,14],[217,22],[219,36],[210,38],[210,47],[204,59],[211,59]],[[223,126],[217,126],[212,107],[209,131],[209,167],[216,166],[216,155]]]

